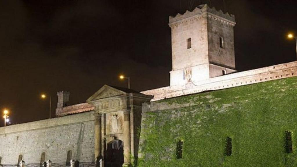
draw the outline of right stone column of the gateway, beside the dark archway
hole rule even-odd
[[[130,110],[124,111],[124,167],[131,166]]]

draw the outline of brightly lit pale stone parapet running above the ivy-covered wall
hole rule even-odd
[[[141,93],[153,95],[154,98],[151,101],[156,101],[209,90],[226,89],[293,76],[297,76],[297,61],[222,75],[209,78],[204,81],[192,82],[180,86],[167,86],[158,89],[151,89]]]

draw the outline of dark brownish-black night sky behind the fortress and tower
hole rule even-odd
[[[224,3],[225,1],[225,3]],[[142,91],[169,85],[168,16],[201,3],[236,16],[239,71],[296,60],[296,0],[0,0],[0,109],[12,122],[48,118],[56,92],[85,102],[104,84]],[[0,125],[3,125],[1,121]]]

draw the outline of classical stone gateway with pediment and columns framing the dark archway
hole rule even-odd
[[[94,106],[95,114],[102,114],[101,126],[95,129],[95,132],[101,131],[100,134],[96,133],[99,134],[96,135],[97,138],[100,138],[96,140],[103,141],[100,146],[95,145],[96,149],[101,149],[95,149],[96,154],[99,153],[97,155],[101,152],[103,158],[106,158],[104,153],[107,152],[107,144],[120,140],[124,145],[125,165],[132,163],[130,154],[138,157],[137,131],[141,122],[141,105],[143,102],[149,102],[151,98],[131,89],[105,85],[87,100]]]

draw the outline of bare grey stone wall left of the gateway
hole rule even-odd
[[[52,163],[66,163],[67,152],[80,162],[94,160],[94,115],[85,112],[0,128],[1,164],[40,163],[41,154]]]

